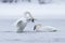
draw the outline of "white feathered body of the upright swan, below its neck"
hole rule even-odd
[[[23,32],[23,30],[25,29],[27,25],[27,22],[25,18],[21,18],[16,22],[16,28],[17,28],[17,32]]]

